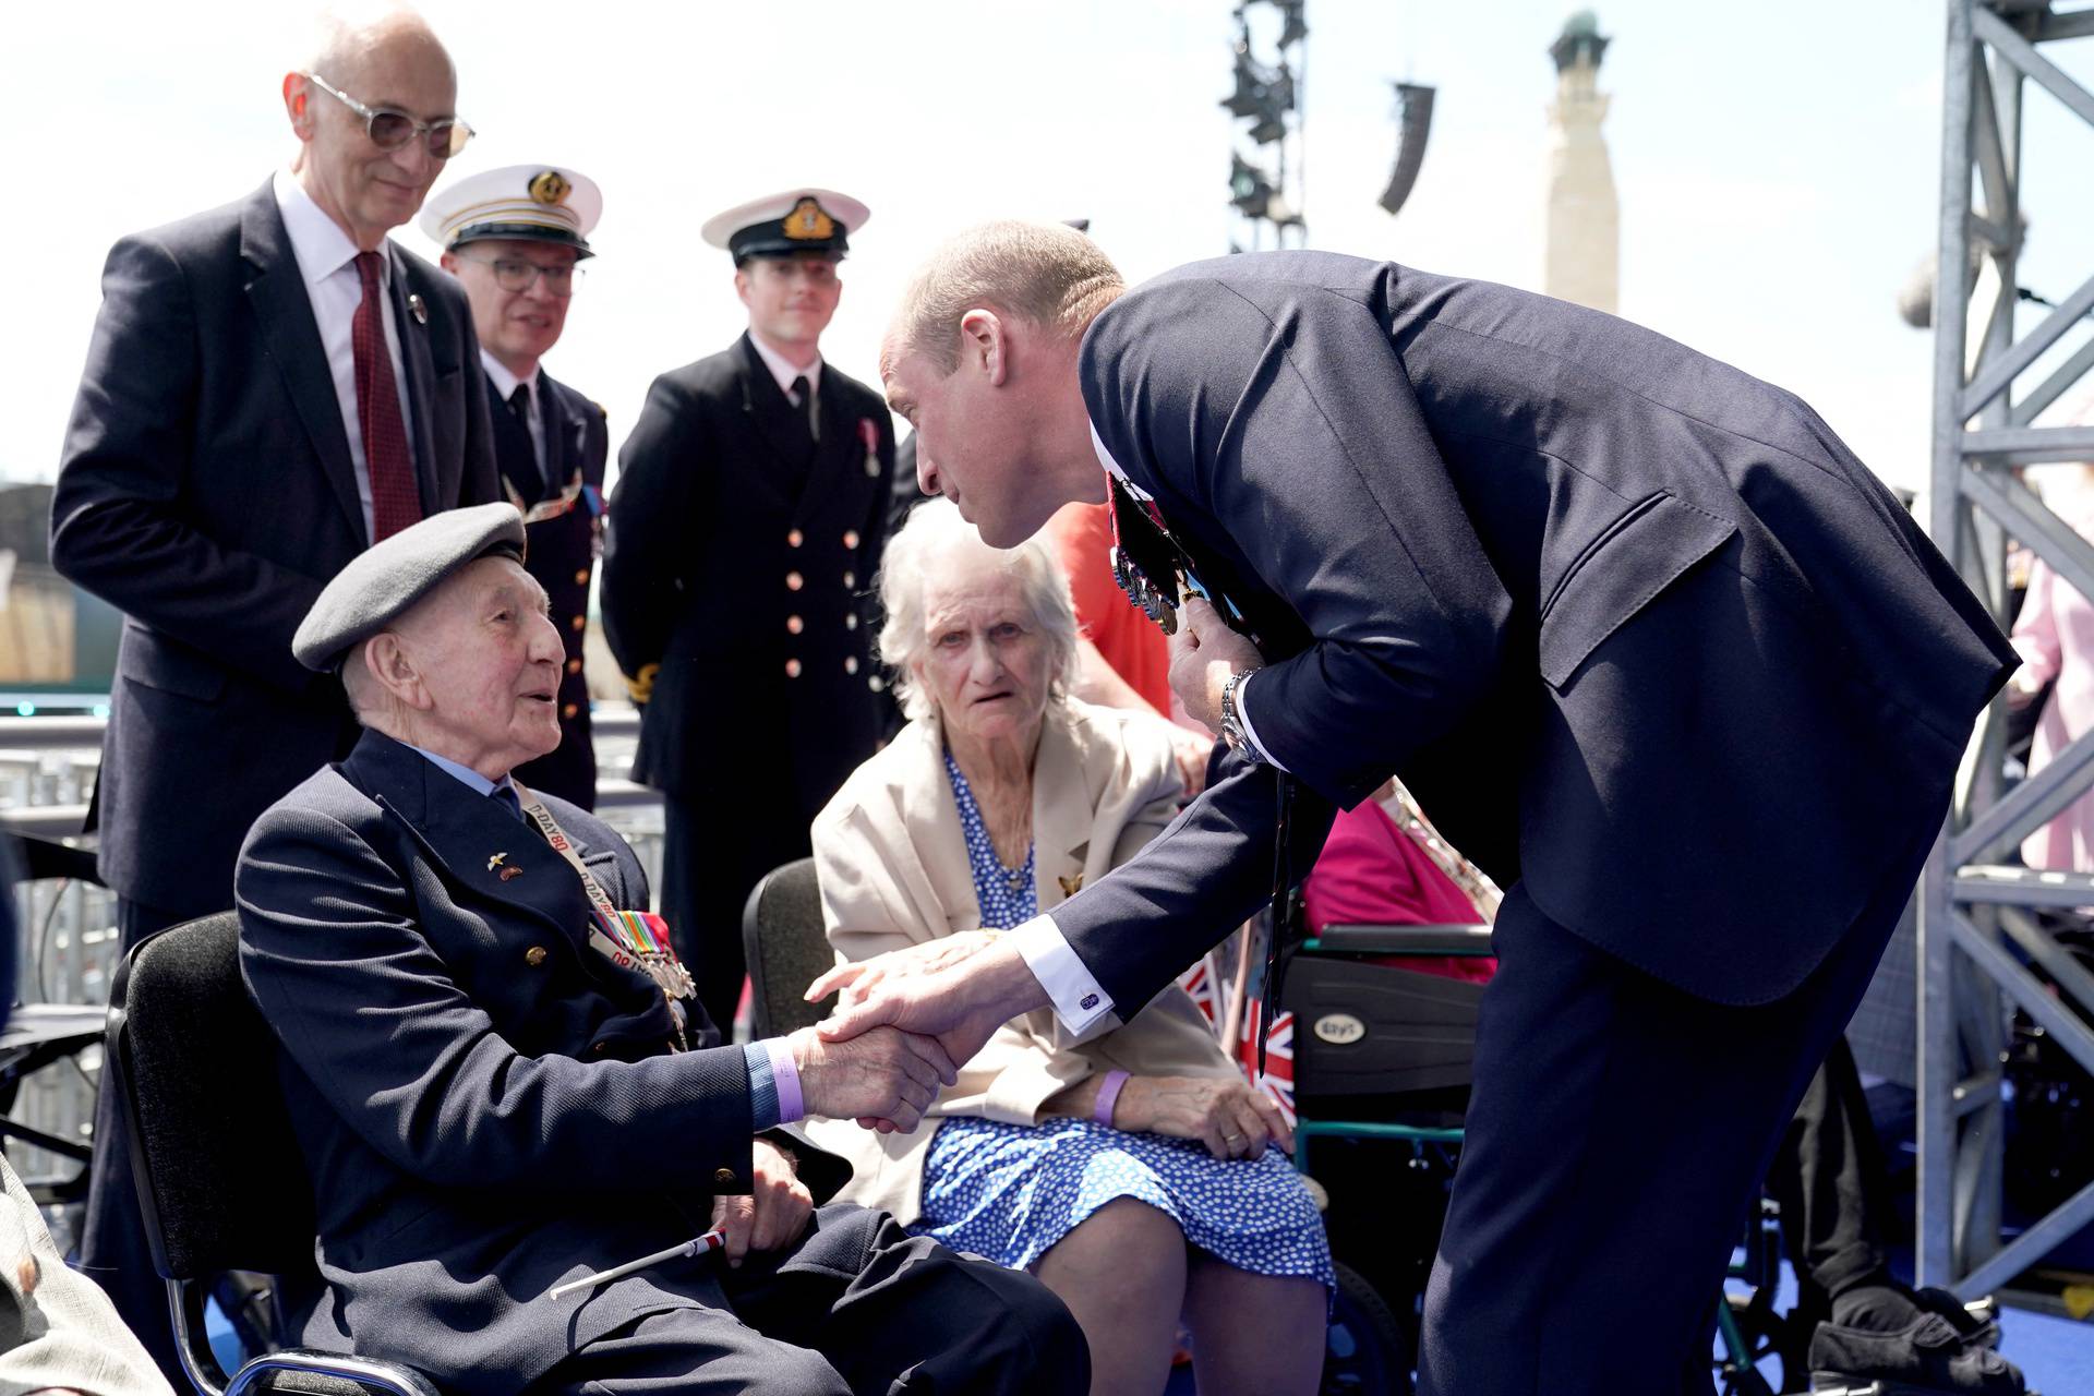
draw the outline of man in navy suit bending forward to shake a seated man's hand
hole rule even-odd
[[[2012,666],[1962,582],[1795,396],[1386,262],[1127,291],[1081,234],[993,224],[919,272],[882,373],[988,542],[1114,500],[1225,745],[1051,917],[825,975],[825,1032],[963,1061],[1022,1009],[1089,1030],[1271,896],[1282,820],[1298,873],[1397,774],[1508,887],[1424,1390],[1707,1392],[1776,1136]]]

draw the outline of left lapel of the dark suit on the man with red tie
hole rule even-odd
[[[283,375],[291,406],[312,437],[320,471],[350,519],[350,532],[364,538],[364,506],[356,494],[356,465],[350,460],[350,437],[341,427],[335,375],[320,347],[320,322],[312,316],[312,297],[306,295],[291,234],[285,232],[283,213],[276,211],[274,182],[264,184],[241,209],[241,257],[251,268],[247,301],[268,337],[270,358]]]

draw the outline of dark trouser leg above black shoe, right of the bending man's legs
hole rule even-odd
[[[1797,1268],[1799,1327],[1807,1331],[1830,1319],[1832,1296],[1889,1279],[1876,1220],[1889,1206],[1891,1185],[1845,1036],[1832,1040],[1782,1132],[1767,1193],[1782,1203],[1782,1241]]]

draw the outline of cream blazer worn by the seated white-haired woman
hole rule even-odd
[[[1168,728],[1150,714],[1051,699],[1032,762],[1032,856],[1039,908],[1051,910],[1104,877],[1177,816],[1183,787]],[[821,915],[840,961],[980,927],[959,806],[944,772],[936,718],[903,728],[859,766],[815,818]],[[1221,938],[1217,927],[1215,938]],[[913,1134],[875,1134],[850,1120],[808,1120],[808,1136],[850,1159],[840,1199],[915,1222],[923,1159],[944,1116],[1039,1124],[1049,1097],[1097,1072],[1235,1076],[1206,1017],[1171,986],[1133,1021],[1083,1038],[1051,1009],[1011,1019],[967,1061]]]

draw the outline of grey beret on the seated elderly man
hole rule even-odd
[[[325,674],[343,651],[369,640],[438,584],[490,553],[524,559],[524,515],[515,504],[473,504],[429,515],[350,559],[306,611],[291,653]]]

